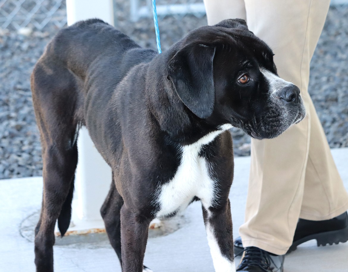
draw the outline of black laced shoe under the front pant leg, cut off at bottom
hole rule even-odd
[[[283,272],[284,255],[274,255],[258,247],[246,247],[237,271]]]

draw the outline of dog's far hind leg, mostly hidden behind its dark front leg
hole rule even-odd
[[[112,174],[113,176],[113,174]],[[103,217],[106,233],[110,240],[110,244],[115,250],[121,267],[121,208],[124,201],[118,193],[114,180],[112,180],[110,191],[106,197],[103,206],[100,209],[100,213]],[[143,272],[152,272],[148,267],[143,266]]]

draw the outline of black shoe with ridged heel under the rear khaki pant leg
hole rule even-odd
[[[296,247],[309,240],[316,239],[318,246],[332,245],[339,242],[348,241],[348,215],[347,212],[334,217],[333,219],[323,221],[312,221],[299,219],[294,239],[287,253],[296,249]],[[235,256],[243,252],[242,239],[237,237],[234,241]]]

